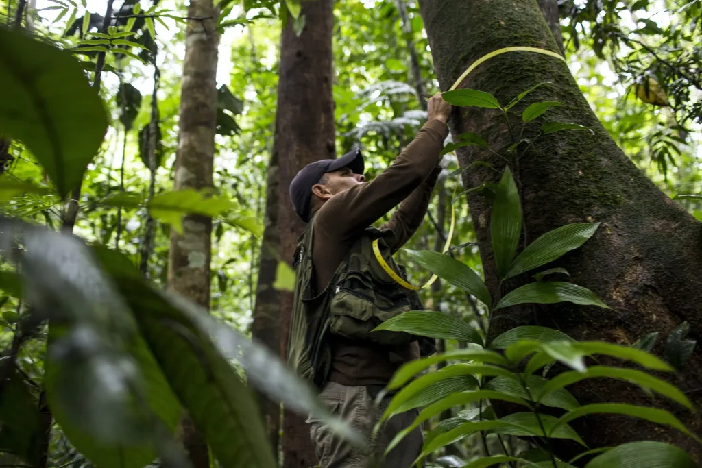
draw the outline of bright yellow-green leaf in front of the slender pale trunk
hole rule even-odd
[[[215,218],[233,207],[233,203],[228,199],[208,196],[208,191],[195,189],[164,192],[154,196],[149,203],[152,216],[172,225],[179,234],[183,234],[183,216],[194,214]]]

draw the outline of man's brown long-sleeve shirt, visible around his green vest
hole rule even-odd
[[[312,265],[317,292],[329,284],[347,250],[366,227],[398,205],[383,228],[394,234],[388,241],[397,250],[420,226],[441,172],[439,161],[449,129],[442,121],[425,123],[395,162],[371,182],[331,197],[314,221]],[[330,379],[342,385],[384,385],[404,361],[418,357],[416,342],[392,351],[387,348],[330,337],[333,361]]]

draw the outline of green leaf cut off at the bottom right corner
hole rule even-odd
[[[692,457],[668,443],[624,443],[590,460],[585,468],[696,468]]]

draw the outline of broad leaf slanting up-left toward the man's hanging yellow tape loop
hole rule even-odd
[[[487,307],[490,307],[490,293],[485,284],[468,265],[465,265],[455,258],[449,257],[431,250],[404,250],[409,258],[415,260],[433,274],[441,279],[445,279],[457,288],[463,289],[466,293],[474,295],[477,300]]]

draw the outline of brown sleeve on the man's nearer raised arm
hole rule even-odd
[[[402,154],[371,182],[364,182],[331,197],[317,213],[317,228],[325,234],[335,236],[340,241],[355,238],[359,231],[366,229],[380,217],[423,185],[439,163],[444,140],[449,129],[439,120],[428,121],[417,136],[407,145]],[[437,174],[438,175],[438,174]],[[432,182],[432,188],[433,188]],[[429,194],[422,192],[419,199]],[[426,202],[428,204],[428,200]],[[409,211],[409,206],[401,210],[399,218]],[[426,207],[424,208],[424,212]],[[424,214],[422,214],[422,217]],[[394,217],[393,219],[397,218]],[[396,220],[403,231],[410,232],[411,225],[419,225],[411,220]],[[416,227],[414,228],[416,229]]]

